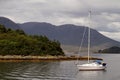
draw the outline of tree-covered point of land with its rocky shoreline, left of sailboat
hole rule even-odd
[[[0,25],[0,61],[77,59],[85,60],[87,57],[65,56],[59,41],[41,35],[27,35],[23,30],[7,29]]]

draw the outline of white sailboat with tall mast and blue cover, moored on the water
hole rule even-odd
[[[91,11],[89,11],[89,17],[91,17]],[[77,64],[77,68],[80,71],[97,71],[105,70],[106,63],[102,63],[101,60],[90,62],[90,28],[88,27],[88,62],[84,64]]]

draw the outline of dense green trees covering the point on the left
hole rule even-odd
[[[27,35],[0,25],[0,55],[64,55],[60,43],[46,36]]]

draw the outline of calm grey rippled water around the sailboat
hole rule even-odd
[[[76,61],[1,62],[0,80],[120,80],[120,55],[98,57],[107,62],[105,71],[78,71]]]

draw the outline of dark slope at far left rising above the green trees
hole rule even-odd
[[[20,29],[19,25],[13,22],[12,20],[5,18],[5,17],[0,17],[0,24],[6,26],[6,28],[11,28],[11,29]]]

